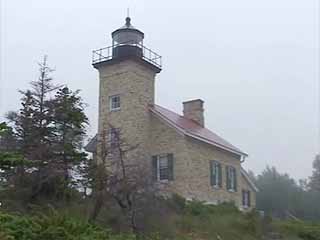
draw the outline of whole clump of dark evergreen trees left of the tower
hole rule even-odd
[[[86,158],[82,144],[88,118],[79,91],[53,83],[46,57],[39,65],[39,78],[20,91],[20,110],[7,114],[15,152],[0,155],[0,167],[7,167],[2,168],[3,181],[13,182],[13,190],[23,192],[28,203],[42,197],[68,199],[71,170]]]

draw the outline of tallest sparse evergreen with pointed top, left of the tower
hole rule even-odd
[[[58,89],[49,74],[53,71],[47,65],[47,57],[39,63],[39,78],[31,82],[31,89],[20,91],[22,108],[19,112],[10,112],[7,118],[13,123],[14,133],[17,136],[19,150],[24,160],[32,163],[32,173],[27,177],[31,180],[31,199],[41,192],[46,192],[50,185],[50,178],[55,174],[50,170],[53,161],[51,148],[53,141],[53,119],[51,95]],[[25,175],[26,166],[17,168],[17,175]],[[23,181],[22,181],[23,183]],[[50,186],[51,187],[51,186]]]

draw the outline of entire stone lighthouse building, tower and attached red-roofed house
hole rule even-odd
[[[132,159],[144,164],[163,191],[254,208],[257,188],[241,167],[247,154],[205,127],[204,102],[183,102],[183,115],[155,104],[161,57],[143,39],[127,17],[112,32],[112,46],[93,51],[100,80],[99,123],[86,150],[98,159],[102,133],[112,138],[120,129],[129,144],[138,146]]]

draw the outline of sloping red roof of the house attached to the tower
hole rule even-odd
[[[242,156],[248,156],[248,154],[242,152],[240,149],[233,146],[231,143],[227,142],[222,137],[218,136],[209,129],[200,126],[193,120],[187,119],[159,105],[150,106],[150,111],[153,112],[155,115],[161,117],[162,119],[166,120],[169,124],[171,124],[179,131],[183,132],[187,136],[196,138],[200,141],[204,141],[216,147],[225,149],[227,151]]]

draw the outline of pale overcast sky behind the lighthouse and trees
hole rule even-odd
[[[93,135],[91,51],[110,45],[130,7],[145,45],[163,56],[158,104],[181,112],[182,101],[201,98],[206,125],[249,153],[247,169],[311,174],[320,151],[318,0],[0,1],[0,120],[20,107],[17,90],[47,54],[54,79],[82,90]]]

